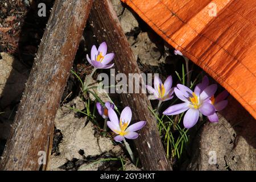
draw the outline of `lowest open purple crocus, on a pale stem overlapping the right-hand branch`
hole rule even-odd
[[[137,130],[142,129],[143,126],[146,125],[146,121],[139,121],[134,123],[133,125],[129,126],[131,122],[131,109],[130,107],[125,107],[122,110],[120,115],[120,120],[118,120],[117,114],[115,111],[110,107],[109,109],[109,119],[110,121],[107,122],[108,127],[114,131],[114,133],[118,134],[114,140],[117,142],[121,142],[123,139],[136,139],[138,138],[138,133],[134,132]],[[129,127],[128,127],[129,126]]]

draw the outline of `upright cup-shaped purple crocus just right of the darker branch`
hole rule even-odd
[[[155,99],[160,101],[167,101],[172,99],[174,96],[174,88],[172,88],[172,76],[168,76],[164,84],[158,76],[154,77],[154,88],[150,85],[146,85],[146,88],[150,94],[154,94]]]

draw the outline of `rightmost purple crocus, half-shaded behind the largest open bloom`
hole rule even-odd
[[[212,104],[216,111],[222,110],[228,105],[228,101],[225,100],[228,97],[229,93],[224,90],[216,98],[212,96],[210,98],[210,104]],[[218,115],[214,112],[212,115],[208,115],[208,119],[210,122],[218,122]]]

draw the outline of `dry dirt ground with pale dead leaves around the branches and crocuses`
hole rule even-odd
[[[48,10],[45,18],[37,16],[37,4],[41,1],[0,2],[0,113],[4,112],[0,114],[1,155],[53,1],[43,1],[47,3]],[[173,75],[175,71],[180,72],[183,60],[172,53],[174,49],[119,0],[112,0],[112,3],[141,71],[159,73],[162,78]],[[97,43],[88,24],[73,65],[73,69],[83,79],[91,70],[85,55],[93,44]],[[196,65],[193,68],[194,72],[202,72]],[[175,79],[174,82],[177,82]],[[69,109],[85,109],[78,97],[79,89],[79,82],[71,75],[55,119],[55,136],[48,169],[140,169],[130,163],[122,144],[113,142],[110,137],[101,137],[98,128],[88,122],[85,115]],[[113,98],[118,101],[115,96]],[[231,96],[229,107],[218,115],[221,118],[219,123],[207,122],[191,130],[190,142],[175,169],[256,169],[255,119]],[[102,122],[102,119],[98,120]],[[209,164],[211,151],[216,151],[217,164]],[[121,160],[104,160],[109,158],[122,159],[125,166],[122,166]]]

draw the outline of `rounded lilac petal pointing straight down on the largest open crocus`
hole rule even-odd
[[[186,129],[190,129],[191,127],[196,125],[196,122],[199,119],[199,110],[197,109],[189,109],[184,116],[183,125]]]

